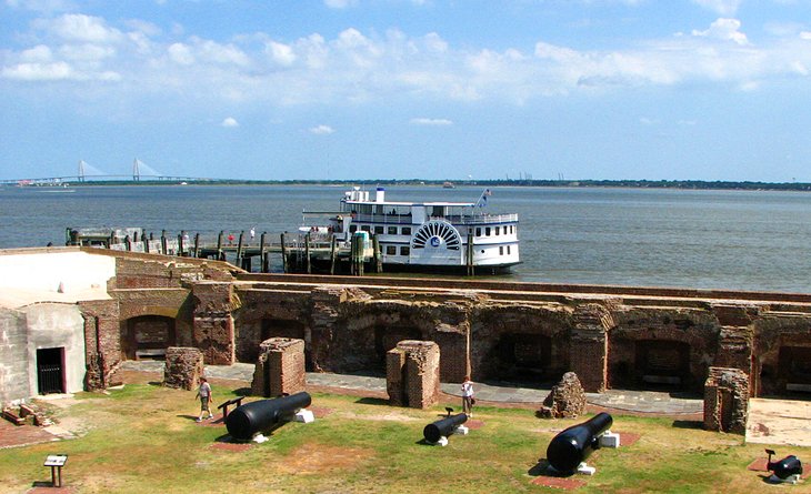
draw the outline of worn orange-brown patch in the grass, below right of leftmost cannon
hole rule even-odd
[[[278,468],[284,473],[307,475],[347,471],[374,455],[371,450],[306,444],[288,456]]]

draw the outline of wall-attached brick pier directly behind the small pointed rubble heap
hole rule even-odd
[[[608,382],[608,331],[614,322],[611,313],[600,304],[584,304],[574,309],[570,362],[583,390],[590,393],[605,391]]]

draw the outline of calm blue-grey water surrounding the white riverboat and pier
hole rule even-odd
[[[372,188],[373,189],[373,188]],[[0,188],[0,248],[62,244],[67,226],[142,226],[213,236],[251,226],[278,239],[301,211],[334,210],[339,186]],[[389,186],[393,201],[470,201],[481,188]],[[497,188],[517,212],[514,280],[811,292],[811,194]]]

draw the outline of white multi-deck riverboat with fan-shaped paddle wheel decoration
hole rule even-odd
[[[490,189],[475,202],[389,201],[383,188],[344,192],[339,211],[307,212],[300,232],[310,241],[334,238],[346,249],[361,239],[389,271],[503,272],[519,264],[518,214],[487,211]],[[308,224],[321,215],[327,224]],[[368,254],[363,254],[369,259]]]

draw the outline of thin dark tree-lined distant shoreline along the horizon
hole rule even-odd
[[[106,185],[435,185],[445,186],[448,180],[237,180],[187,179],[177,180],[86,180],[84,182],[37,182],[23,185],[38,188],[79,188]],[[551,186],[551,188],[623,188],[623,189],[681,189],[681,190],[751,190],[751,191],[811,191],[805,182],[748,182],[703,180],[460,180],[453,186]],[[17,186],[6,183],[2,186]]]

